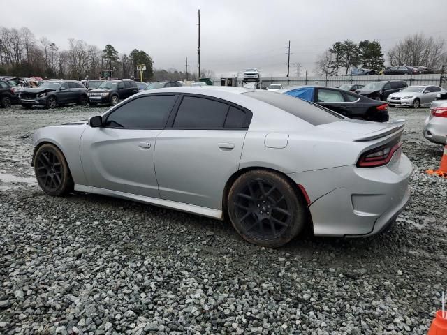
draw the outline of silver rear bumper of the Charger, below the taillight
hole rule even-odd
[[[340,168],[288,174],[309,195],[314,234],[377,234],[406,207],[411,162],[400,151],[379,168]],[[400,159],[399,159],[400,158]]]

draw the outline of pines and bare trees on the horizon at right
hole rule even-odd
[[[387,52],[390,66],[426,66],[439,71],[447,63],[446,41],[435,40],[423,34],[413,34],[400,40]],[[316,60],[316,73],[321,75],[347,75],[352,68],[369,68],[380,71],[385,59],[381,44],[374,40],[335,42]]]

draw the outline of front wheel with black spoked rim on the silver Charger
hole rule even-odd
[[[73,191],[73,179],[64,154],[53,144],[43,144],[34,156],[34,172],[47,195],[60,196]]]

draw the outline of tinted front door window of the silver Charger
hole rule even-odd
[[[143,96],[136,98],[109,114],[105,126],[164,128],[175,99],[175,96]]]

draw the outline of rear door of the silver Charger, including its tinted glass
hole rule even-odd
[[[156,137],[160,197],[221,209],[223,189],[239,168],[251,112],[217,98],[184,94]]]

